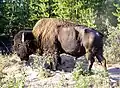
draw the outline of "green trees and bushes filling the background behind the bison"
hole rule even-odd
[[[38,20],[46,17],[69,19],[100,31],[105,35],[104,56],[107,63],[120,63],[120,0],[0,0],[0,35],[14,37],[18,31],[33,28]],[[6,60],[0,59],[0,62]],[[74,75],[79,76],[78,72]],[[96,80],[89,76],[79,78],[75,77],[79,83],[89,84],[89,81]],[[101,80],[100,77],[97,79]],[[81,85],[79,83],[77,88]],[[87,88],[88,84],[80,88]]]

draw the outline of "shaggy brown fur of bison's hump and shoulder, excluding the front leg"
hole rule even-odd
[[[58,34],[57,29],[61,25],[72,26],[75,24],[70,21],[58,20],[55,18],[43,18],[33,27],[32,33],[39,42],[40,50],[44,53],[46,51],[49,53],[55,52],[55,37]]]

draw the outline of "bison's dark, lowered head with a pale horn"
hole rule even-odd
[[[21,60],[28,61],[29,55],[37,49],[36,43],[32,31],[23,30],[15,35],[13,49]]]

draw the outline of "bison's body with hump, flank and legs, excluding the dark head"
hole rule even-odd
[[[55,69],[57,60],[60,59],[59,54],[63,52],[76,57],[85,55],[87,52],[90,60],[89,70],[92,68],[95,56],[100,63],[104,61],[106,69],[106,60],[102,55],[101,33],[83,25],[54,18],[39,20],[32,32],[42,53],[50,54],[54,58],[53,69]]]

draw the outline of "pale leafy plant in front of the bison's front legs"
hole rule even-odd
[[[49,69],[46,69],[47,66],[50,65],[50,57],[49,56],[35,56],[33,58],[33,62],[31,64],[33,70],[38,72],[38,78],[47,78],[53,76]]]

